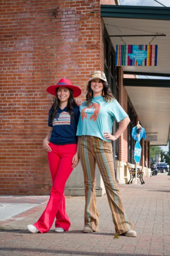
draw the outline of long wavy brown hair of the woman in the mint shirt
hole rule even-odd
[[[103,84],[103,90],[104,90],[104,95],[102,95],[102,97],[104,98],[104,100],[106,102],[109,102],[109,101],[113,100],[114,96],[113,96],[113,93],[112,93],[109,85],[107,84],[107,82],[102,81],[102,84]],[[86,101],[87,101],[86,105],[89,105],[91,103],[92,98],[93,98],[93,91],[91,90],[91,81],[88,82],[87,90],[88,90],[88,92],[86,94]]]

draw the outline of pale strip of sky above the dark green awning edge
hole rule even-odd
[[[170,0],[157,0],[166,7],[170,7]],[[163,7],[154,0],[120,0],[121,5],[136,5],[136,6],[157,6]]]

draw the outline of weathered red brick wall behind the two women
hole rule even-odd
[[[46,195],[45,89],[64,77],[84,98],[89,74],[103,70],[100,1],[2,0],[1,15],[0,193]]]

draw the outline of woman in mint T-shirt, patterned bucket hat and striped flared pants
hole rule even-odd
[[[86,101],[80,106],[77,136],[81,136],[80,159],[85,184],[84,233],[98,231],[99,214],[95,196],[95,165],[97,163],[103,179],[108,203],[112,211],[116,233],[137,236],[126,216],[120,192],[114,177],[113,151],[111,141],[125,131],[130,119],[107,84],[103,72],[91,74],[87,86]],[[113,121],[121,121],[119,129],[111,134]]]

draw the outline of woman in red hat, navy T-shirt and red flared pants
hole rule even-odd
[[[27,226],[31,233],[49,231],[55,217],[55,232],[69,230],[64,187],[79,162],[76,130],[80,112],[74,97],[81,94],[81,89],[68,79],[61,79],[57,85],[49,86],[47,92],[56,96],[49,111],[50,129],[43,141],[44,149],[48,152],[52,187],[49,202],[38,222]]]

